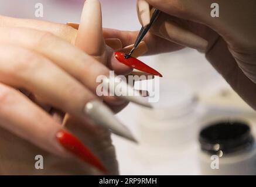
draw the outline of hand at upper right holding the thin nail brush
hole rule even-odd
[[[138,4],[140,20],[148,23],[149,6]],[[147,54],[164,53],[192,47],[206,53],[207,60],[233,89],[256,109],[256,27],[255,1],[214,1],[220,6],[220,17],[211,18],[212,1],[146,0],[162,11],[145,37]],[[141,21],[142,22],[142,21]],[[138,32],[105,29],[105,37],[115,37],[128,45]]]

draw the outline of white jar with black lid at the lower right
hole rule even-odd
[[[256,175],[256,147],[245,122],[218,122],[199,135],[203,175]]]

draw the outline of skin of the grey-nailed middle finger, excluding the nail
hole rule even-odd
[[[1,82],[16,88],[25,88],[64,112],[85,116],[84,106],[95,99],[95,96],[76,79],[47,58],[21,47],[6,45],[0,46],[0,49]],[[16,56],[19,58],[17,59]],[[62,82],[56,81],[58,79]],[[76,93],[76,96],[70,94],[72,92]]]

